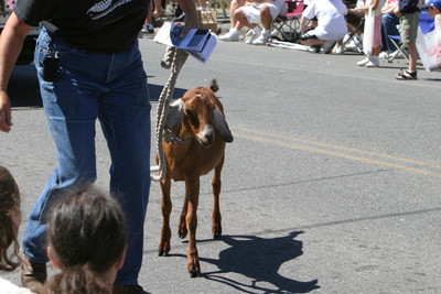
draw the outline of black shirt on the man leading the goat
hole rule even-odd
[[[55,37],[80,50],[128,50],[144,23],[150,0],[19,0],[20,21],[40,22]]]

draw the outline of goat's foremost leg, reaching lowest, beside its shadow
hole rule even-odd
[[[200,198],[200,177],[197,175],[185,178],[185,198],[187,199],[185,222],[189,230],[187,270],[190,276],[195,277],[201,275],[196,248],[197,204]]]

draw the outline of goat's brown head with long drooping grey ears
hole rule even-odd
[[[189,90],[169,108],[166,128],[176,132],[182,123],[203,145],[211,146],[215,140],[215,129],[225,142],[233,142],[228,124],[218,107],[207,96],[214,94],[206,88]],[[212,98],[213,98],[212,97]]]

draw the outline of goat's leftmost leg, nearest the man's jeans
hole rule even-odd
[[[170,230],[170,214],[172,213],[172,202],[170,200],[170,187],[171,181],[165,177],[161,181],[162,189],[162,230],[161,230],[161,242],[159,243],[159,255],[168,255],[170,252],[170,238],[172,232]]]

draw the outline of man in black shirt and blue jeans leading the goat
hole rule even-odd
[[[0,37],[0,130],[12,127],[9,78],[23,40],[42,24],[34,64],[57,165],[40,195],[23,237],[20,280],[39,293],[47,277],[47,211],[66,189],[96,181],[95,122],[107,140],[110,193],[127,218],[128,250],[114,293],[143,293],[143,228],[150,190],[150,101],[138,47],[149,0],[20,0]],[[181,37],[197,26],[192,0],[178,0],[186,20]]]

